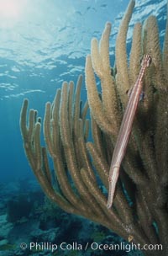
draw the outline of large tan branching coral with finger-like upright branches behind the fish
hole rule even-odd
[[[82,76],[78,78],[76,91],[73,82],[64,82],[53,103],[45,105],[43,122],[34,109],[27,116],[29,102],[24,99],[20,129],[30,167],[50,200],[64,211],[96,221],[126,240],[131,237],[133,243],[141,246],[160,243],[163,246],[160,256],[165,256],[168,253],[168,29],[166,25],[162,52],[155,17],[149,17],[144,24],[135,24],[127,55],[126,36],[133,9],[134,1],[130,1],[118,31],[117,73],[111,74],[108,23],[101,40],[92,40],[91,55],[87,56],[88,101],[81,102]],[[137,79],[139,59],[144,54],[150,54],[153,62],[144,75],[144,99],[139,102],[121,164],[113,206],[107,209],[113,149],[129,100],[127,92]],[[100,79],[101,92],[97,90],[95,75]],[[87,120],[89,113],[91,125]],[[42,126],[45,147],[40,141]],[[144,253],[158,255],[158,251]]]

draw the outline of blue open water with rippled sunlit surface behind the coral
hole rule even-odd
[[[24,98],[44,115],[64,80],[84,74],[93,36],[113,23],[110,51],[129,0],[0,0],[0,182],[33,177],[24,156],[19,112]],[[161,40],[166,0],[137,0],[131,29],[154,14]],[[86,97],[85,87],[82,88]]]

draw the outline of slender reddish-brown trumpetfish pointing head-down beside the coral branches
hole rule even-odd
[[[108,208],[110,208],[113,204],[113,196],[114,196],[116,184],[118,181],[119,168],[123,161],[123,157],[125,155],[127,145],[129,143],[129,137],[130,137],[133,122],[134,122],[134,116],[136,114],[136,110],[139,104],[139,97],[142,90],[144,72],[146,68],[150,66],[151,60],[152,59],[149,55],[144,55],[144,58],[141,62],[139,76],[133,88],[131,89],[129,102],[123,114],[123,120],[119,129],[116,145],[113,150],[113,157],[112,157],[112,162],[109,170],[109,177],[108,177],[109,188],[108,188],[108,205],[107,205]]]

